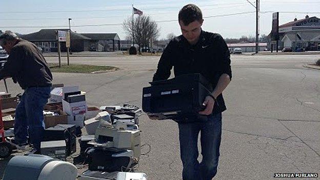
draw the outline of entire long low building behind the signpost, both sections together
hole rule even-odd
[[[68,31],[69,29],[42,29],[38,32],[19,35],[36,46],[41,47],[44,52],[57,52],[56,31]],[[119,49],[120,38],[116,33],[76,33],[71,31],[72,52],[80,51],[115,51]],[[65,52],[66,43],[61,42],[61,51]]]

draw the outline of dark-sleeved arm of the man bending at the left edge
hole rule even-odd
[[[21,48],[13,48],[11,50],[7,62],[0,70],[0,79],[12,77],[17,71],[22,69],[23,53]]]

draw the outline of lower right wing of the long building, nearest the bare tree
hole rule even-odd
[[[81,33],[89,37],[90,51],[116,51],[120,50],[120,38],[116,33]]]

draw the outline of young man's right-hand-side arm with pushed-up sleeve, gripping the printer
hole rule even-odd
[[[217,35],[215,38],[217,41],[216,48],[218,52],[221,52],[221,53],[218,53],[219,54],[218,56],[219,70],[217,72],[218,74],[221,74],[221,75],[219,76],[218,82],[213,92],[211,93],[213,97],[207,96],[205,98],[203,105],[206,106],[206,109],[199,112],[199,114],[204,114],[204,115],[209,115],[212,113],[216,98],[226,89],[226,87],[231,82],[231,78],[232,78],[229,48],[221,35]]]

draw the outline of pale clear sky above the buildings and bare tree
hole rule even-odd
[[[250,2],[255,5],[254,0]],[[28,34],[40,29],[67,29],[68,18],[72,18],[72,31],[117,33],[121,39],[125,39],[127,35],[121,24],[124,19],[132,16],[133,4],[135,8],[143,11],[144,15],[149,15],[158,22],[161,39],[166,38],[169,33],[181,34],[177,14],[189,3],[197,5],[202,10],[203,30],[219,33],[225,38],[255,36],[255,8],[246,0],[1,0],[0,30]],[[310,17],[320,17],[319,7],[319,0],[261,0],[259,33],[270,33],[272,12],[279,12],[281,25],[293,21],[295,17],[305,18],[307,14],[304,12],[309,12]]]

